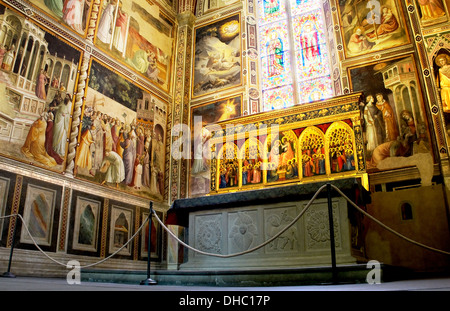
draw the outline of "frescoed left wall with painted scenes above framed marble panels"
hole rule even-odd
[[[66,15],[61,1],[0,2],[0,216],[24,217],[16,274],[67,273],[35,243],[63,264],[115,254],[98,267],[145,269],[145,227],[116,252],[147,219],[150,202],[161,219],[168,208],[174,10],[170,1],[96,0]],[[15,223],[2,219],[3,270]],[[159,266],[155,221],[151,238]]]

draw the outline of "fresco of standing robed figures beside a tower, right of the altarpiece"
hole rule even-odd
[[[369,172],[388,158],[433,155],[415,64],[410,55],[349,69],[353,90],[365,95],[361,113]]]

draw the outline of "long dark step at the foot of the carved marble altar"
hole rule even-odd
[[[158,285],[217,286],[217,287],[263,287],[323,284],[366,283],[371,271],[366,264],[337,266],[333,281],[331,267],[302,267],[255,270],[154,270],[150,278]],[[381,265],[381,282],[407,279],[409,271],[403,268]],[[82,270],[81,281],[140,284],[147,279],[147,271]]]

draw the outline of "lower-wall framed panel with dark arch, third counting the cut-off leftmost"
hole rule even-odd
[[[97,252],[101,205],[101,201],[76,198],[73,249]]]

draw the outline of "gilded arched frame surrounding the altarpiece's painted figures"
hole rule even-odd
[[[210,194],[261,189],[287,184],[302,184],[348,177],[362,177],[363,180],[367,180],[359,106],[361,95],[362,93],[354,93],[329,100],[294,106],[287,109],[263,112],[218,123],[222,130],[217,130],[211,135],[210,146],[212,159]],[[237,125],[234,126],[235,124]],[[250,130],[246,128],[246,126],[250,126]],[[272,128],[272,126],[276,127]],[[253,160],[259,163],[261,168],[267,168],[267,163],[269,163],[268,141],[272,142],[272,134],[278,134],[275,132],[276,128],[278,128],[278,133],[290,131],[297,131],[300,133],[298,134],[298,137],[296,136],[294,150],[297,159],[297,177],[293,175],[294,178],[290,179],[279,178],[277,181],[268,181],[267,171],[262,170],[259,182],[250,184],[243,182],[243,164],[245,161],[251,160],[245,159],[243,155],[246,153],[250,140],[256,141],[255,146],[257,146],[258,150],[262,148],[262,150],[259,150],[261,156]],[[273,133],[272,130],[274,131]],[[325,162],[323,163],[324,167],[322,168],[325,170],[322,170],[321,174],[304,176],[302,161],[300,160],[302,156],[301,146],[302,139],[307,136],[305,133],[308,133],[308,131],[321,133],[320,135],[323,136],[322,154],[324,154]],[[343,139],[336,139],[336,135],[341,135],[341,138]],[[334,142],[339,141],[340,144],[332,145],[333,139]],[[234,159],[220,156],[227,144],[233,145],[235,153]],[[346,151],[346,160],[348,161],[346,164],[342,162],[343,160],[340,164],[337,163],[337,157],[336,159],[332,158],[333,152],[337,154],[339,148],[341,153],[344,149]],[[343,158],[344,156],[342,159]],[[230,160],[238,162],[238,168],[233,172],[233,176],[235,176],[235,173],[238,175],[238,180],[233,182],[232,186],[224,187],[223,184],[221,185],[220,183],[220,174],[221,170],[223,170],[224,166],[227,164],[226,161]],[[255,161],[253,162],[254,164],[256,164]],[[333,170],[333,163],[339,165],[339,167],[347,165],[346,168],[350,167],[350,169]]]

